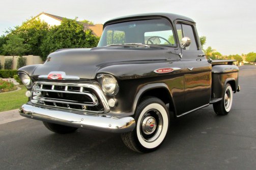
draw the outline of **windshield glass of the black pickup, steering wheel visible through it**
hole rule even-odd
[[[98,47],[125,44],[176,46],[173,29],[168,20],[148,19],[107,25]]]

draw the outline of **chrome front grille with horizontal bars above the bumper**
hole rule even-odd
[[[80,112],[109,111],[106,98],[96,84],[35,82],[31,101],[37,105]]]

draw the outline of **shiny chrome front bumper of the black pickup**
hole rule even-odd
[[[132,117],[116,118],[83,115],[61,110],[45,109],[32,105],[22,105],[19,113],[21,116],[45,122],[107,132],[124,133],[132,131],[135,127],[135,120]]]

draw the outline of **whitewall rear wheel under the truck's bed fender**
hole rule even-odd
[[[214,112],[217,115],[227,115],[231,110],[233,103],[233,90],[229,83],[225,85],[222,97],[223,99],[221,101],[213,104]]]

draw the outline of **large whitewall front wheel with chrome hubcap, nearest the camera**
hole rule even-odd
[[[135,121],[135,129],[122,134],[124,144],[136,152],[156,150],[164,141],[169,126],[166,105],[156,97],[144,99],[137,107]]]

